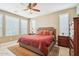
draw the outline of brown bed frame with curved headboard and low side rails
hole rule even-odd
[[[54,39],[52,41],[52,43],[50,44],[50,46],[48,47],[48,52],[51,51],[51,49],[53,48],[53,46],[56,44],[56,29],[54,29],[53,27],[40,27],[37,31],[39,30],[49,30],[49,31],[53,31],[52,35],[54,35]],[[32,47],[32,46],[29,46],[29,45],[25,45],[21,42],[19,42],[19,45],[21,47],[24,47],[26,49],[29,49],[31,50],[32,52],[34,53],[37,53],[39,55],[44,55],[38,48],[35,48],[35,47]]]

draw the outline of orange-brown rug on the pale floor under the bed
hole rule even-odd
[[[16,56],[40,56],[28,49],[22,48],[19,45],[11,46],[8,48],[11,52],[13,52]],[[59,47],[53,47],[48,56],[58,56],[59,55]]]

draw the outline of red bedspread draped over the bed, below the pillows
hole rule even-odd
[[[48,47],[52,41],[52,35],[26,35],[20,37],[18,42],[38,48],[41,52],[47,55]]]

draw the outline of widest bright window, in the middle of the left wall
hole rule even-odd
[[[6,16],[6,36],[19,34],[19,18]]]

